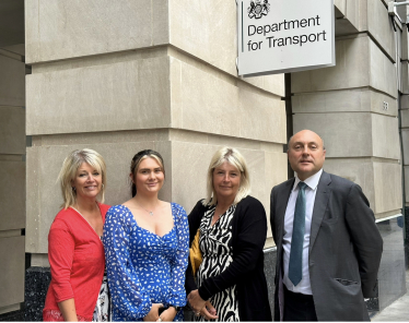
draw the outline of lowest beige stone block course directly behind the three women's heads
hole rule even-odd
[[[47,253],[49,226],[61,204],[56,178],[69,152],[90,147],[105,157],[106,202],[118,204],[130,199],[128,174],[133,154],[145,148],[159,151],[166,169],[161,198],[179,203],[189,212],[206,195],[210,157],[224,145],[243,153],[250,169],[252,194],[268,208],[270,189],[287,179],[287,159],[279,144],[172,129],[34,139],[33,146],[27,148],[27,187],[31,189],[27,190],[26,251]]]

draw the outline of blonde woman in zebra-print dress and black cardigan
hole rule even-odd
[[[262,248],[267,217],[249,196],[246,162],[235,148],[219,149],[208,170],[208,196],[189,214],[190,244],[200,229],[203,261],[186,291],[195,321],[271,321]]]

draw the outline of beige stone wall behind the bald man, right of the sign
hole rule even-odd
[[[360,184],[377,218],[396,215],[402,175],[394,29],[381,0],[335,5],[337,65],[292,73],[294,132],[319,133],[324,169]]]

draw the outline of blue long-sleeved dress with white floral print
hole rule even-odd
[[[106,214],[103,242],[113,300],[113,321],[142,321],[152,303],[186,304],[189,229],[185,210],[172,203],[174,227],[160,237],[138,226],[130,210]],[[183,321],[179,311],[174,321]]]

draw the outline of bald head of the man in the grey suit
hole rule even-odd
[[[302,181],[319,171],[325,162],[323,140],[309,130],[300,131],[292,136],[287,154],[291,168]]]

